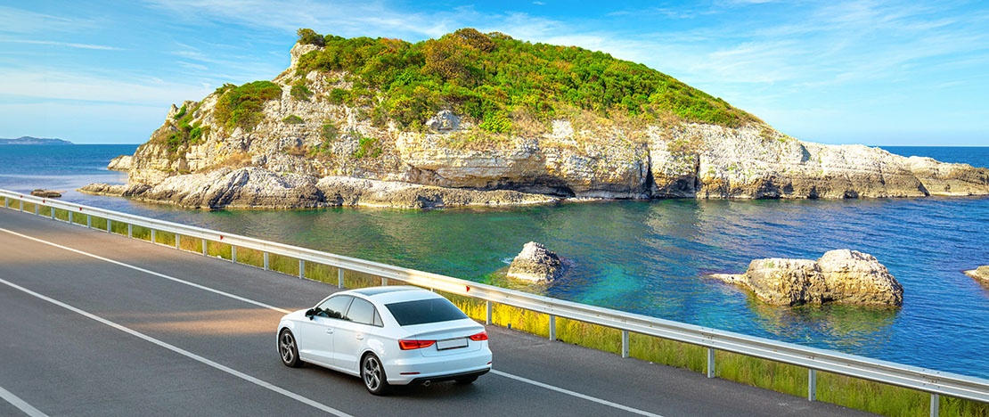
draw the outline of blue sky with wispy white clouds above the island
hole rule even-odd
[[[989,146],[978,1],[45,1],[0,5],[0,137],[142,143],[169,106],[272,79],[299,28],[460,28],[642,62],[792,136]]]

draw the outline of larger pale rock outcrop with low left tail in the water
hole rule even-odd
[[[829,251],[816,261],[757,259],[745,274],[712,277],[776,305],[903,305],[903,286],[886,267],[872,255],[849,249]]]

